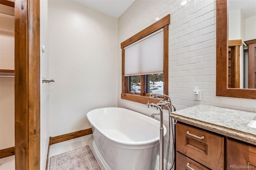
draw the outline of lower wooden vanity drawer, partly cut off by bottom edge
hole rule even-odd
[[[178,170],[209,170],[179,152],[176,152],[176,167]]]

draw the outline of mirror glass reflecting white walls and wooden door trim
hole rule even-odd
[[[228,88],[256,89],[256,0],[228,0]]]

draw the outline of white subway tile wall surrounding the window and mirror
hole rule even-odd
[[[256,100],[216,97],[216,0],[187,1],[188,4],[182,6],[182,0],[135,0],[118,18],[118,42],[156,22],[156,18],[170,14],[168,88],[176,108],[207,104],[256,112]],[[157,112],[120,98],[121,49],[118,55],[118,106],[146,115]],[[201,101],[194,101],[196,86],[201,90]],[[168,113],[164,114],[168,127]],[[166,148],[167,139],[164,141]]]

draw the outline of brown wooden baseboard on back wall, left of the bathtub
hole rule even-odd
[[[84,129],[84,130],[76,131],[76,132],[72,132],[72,133],[67,133],[65,135],[59,135],[59,136],[56,136],[56,137],[52,137],[52,145],[56,144],[56,143],[63,142],[63,141],[67,141],[67,140],[70,140],[70,139],[74,139],[74,138],[77,138],[77,137],[90,135],[90,134],[92,134],[92,128]]]

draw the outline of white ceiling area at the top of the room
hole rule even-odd
[[[74,0],[79,4],[119,18],[134,0]]]

